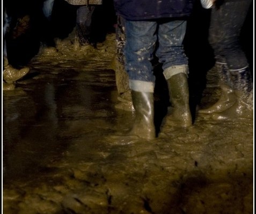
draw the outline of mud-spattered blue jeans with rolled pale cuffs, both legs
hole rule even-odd
[[[155,76],[151,60],[158,41],[156,56],[163,63],[166,79],[177,73],[188,73],[188,60],[182,42],[185,20],[126,20],[126,71],[132,90],[153,92]]]

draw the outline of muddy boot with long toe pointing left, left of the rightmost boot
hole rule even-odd
[[[232,89],[232,83],[230,81],[228,67],[226,63],[216,63],[216,70],[218,73],[219,83],[218,86],[221,88],[221,96],[219,100],[207,109],[200,109],[199,113],[215,113],[222,112],[230,108],[236,103],[235,91]]]

